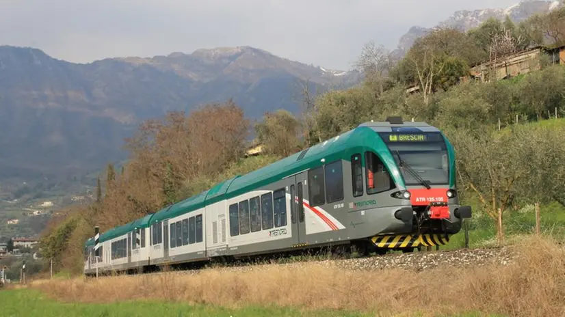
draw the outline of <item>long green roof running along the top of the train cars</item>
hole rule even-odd
[[[285,176],[291,176],[306,171],[307,169],[318,167],[322,164],[322,158],[325,159],[324,163],[331,163],[339,158],[349,159],[356,151],[371,146],[371,144],[376,142],[375,132],[414,131],[439,132],[436,127],[430,126],[425,122],[398,123],[397,120],[391,120],[391,122],[365,122],[337,137],[332,137],[315,146],[311,146],[287,158],[283,158],[280,161],[251,171],[243,176],[235,176],[234,178],[215,184],[214,187],[207,191],[202,191],[202,193],[198,195],[188,197],[181,202],[162,208],[154,214],[146,215],[131,223],[112,228],[104,234],[101,234],[100,240],[101,242],[110,240],[127,234],[136,228],[148,228],[151,223],[184,215],[187,212],[204,208],[209,204],[241,195],[241,193],[262,187],[265,184],[270,184]],[[89,242],[87,241],[87,243]],[[94,243],[94,240],[92,243]]]

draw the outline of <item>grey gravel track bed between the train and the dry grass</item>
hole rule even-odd
[[[347,260],[323,260],[311,262],[292,262],[286,264],[269,265],[241,265],[218,267],[218,271],[254,271],[272,265],[287,267],[304,266],[307,263],[334,266],[346,270],[380,270],[386,268],[404,268],[408,270],[423,271],[436,266],[483,266],[486,264],[507,265],[512,262],[514,254],[506,247],[488,249],[460,249],[454,251],[430,251],[415,253],[395,253],[386,256],[372,256],[370,258],[356,258]],[[194,275],[200,270],[181,271],[183,274]]]

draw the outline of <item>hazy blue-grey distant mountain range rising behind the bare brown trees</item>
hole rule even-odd
[[[123,139],[140,120],[205,102],[233,98],[250,118],[296,112],[299,80],[347,87],[356,74],[249,46],[91,64],[0,46],[0,178],[80,177],[124,159]]]

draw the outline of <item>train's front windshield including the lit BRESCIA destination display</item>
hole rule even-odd
[[[379,133],[402,172],[406,185],[449,184],[449,161],[442,135]]]

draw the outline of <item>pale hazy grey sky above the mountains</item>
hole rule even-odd
[[[350,68],[365,42],[393,49],[412,25],[519,0],[0,0],[0,44],[75,62],[249,45]]]

